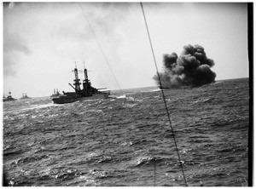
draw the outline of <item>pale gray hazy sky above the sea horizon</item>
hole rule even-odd
[[[216,80],[248,77],[246,3],[143,3],[159,70],[163,54],[199,44]],[[90,30],[90,26],[95,32]],[[104,59],[96,40],[101,44]],[[139,3],[3,6],[3,94],[73,91],[74,61],[96,88],[154,86],[156,70]],[[114,77],[119,82],[115,82]],[[83,73],[79,73],[81,80]]]

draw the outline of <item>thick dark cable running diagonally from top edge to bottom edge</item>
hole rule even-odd
[[[168,120],[169,120],[169,123],[170,123],[170,127],[171,127],[171,130],[172,130],[172,136],[173,136],[173,140],[174,140],[175,147],[176,147],[176,151],[177,151],[178,161],[179,161],[179,163],[180,163],[180,167],[181,167],[182,172],[183,172],[183,179],[184,179],[185,185],[188,186],[188,185],[187,185],[187,180],[186,180],[186,178],[185,178],[184,171],[183,171],[183,163],[182,163],[182,161],[181,161],[181,158],[180,158],[180,155],[179,155],[179,152],[178,152],[178,149],[177,149],[177,141],[176,141],[176,139],[175,139],[174,131],[173,131],[173,128],[172,128],[171,117],[170,117],[170,114],[169,114],[169,111],[168,111],[168,107],[167,107],[167,104],[166,104],[166,96],[165,96],[164,91],[163,91],[163,88],[162,88],[162,83],[161,83],[161,80],[160,80],[160,74],[159,74],[159,71],[158,71],[158,67],[157,67],[157,65],[156,65],[156,60],[155,60],[155,56],[154,56],[154,49],[153,49],[153,45],[152,45],[151,38],[150,38],[150,35],[149,35],[148,24],[147,24],[147,20],[146,20],[146,16],[145,16],[145,13],[144,13],[143,3],[142,3],[142,2],[141,2],[141,7],[142,7],[142,10],[143,10],[143,18],[144,18],[145,25],[146,25],[147,32],[148,32],[148,40],[149,40],[150,47],[151,47],[151,51],[152,51],[153,58],[154,58],[154,66],[155,66],[155,68],[156,68],[157,76],[158,76],[158,78],[159,78],[160,90],[161,90],[161,93],[162,93],[162,96],[163,96],[163,100],[164,100],[164,103],[165,103],[165,106],[166,106],[166,113],[167,113]]]

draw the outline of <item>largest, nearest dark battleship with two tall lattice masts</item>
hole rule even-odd
[[[78,100],[87,100],[87,99],[107,99],[110,91],[100,91],[101,89],[96,89],[91,86],[90,80],[88,78],[87,69],[84,68],[84,80],[83,80],[83,89],[80,88],[80,79],[78,69],[74,68],[73,70],[75,79],[73,80],[73,85],[68,83],[75,92],[64,92],[63,94],[58,94],[57,96],[53,97],[52,100],[54,104],[66,104],[72,103]],[[106,89],[106,88],[102,88]]]

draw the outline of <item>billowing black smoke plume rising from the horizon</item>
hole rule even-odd
[[[211,70],[214,61],[207,58],[200,45],[184,46],[179,57],[176,53],[164,54],[163,64],[163,72],[159,73],[162,88],[199,87],[215,82],[216,73]],[[159,77],[153,78],[160,85]]]

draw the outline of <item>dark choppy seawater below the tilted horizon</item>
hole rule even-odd
[[[162,95],[153,89],[65,105],[49,97],[4,102],[9,185],[154,186],[155,178],[156,186],[184,186]],[[188,185],[247,186],[248,79],[164,92]]]

